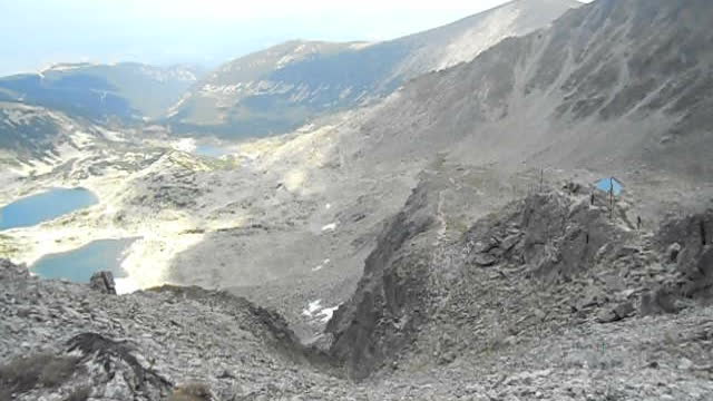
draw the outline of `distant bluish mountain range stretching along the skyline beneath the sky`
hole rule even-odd
[[[211,74],[134,62],[56,65],[0,78],[0,101],[100,124],[152,120],[177,135],[277,135],[382,99],[409,79],[470,61],[500,40],[544,28],[578,6],[576,0],[516,0],[385,42],[291,41]]]

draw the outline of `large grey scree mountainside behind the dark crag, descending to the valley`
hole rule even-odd
[[[633,205],[629,218],[645,225],[706,206],[713,53],[701,42],[711,17],[704,1],[598,1],[319,129],[245,145],[235,156],[245,160],[240,172],[196,179],[250,186],[216,189],[212,196],[231,194],[233,203],[213,213],[257,228],[209,233],[174,258],[168,276],[206,286],[282,280],[285,288],[300,277],[321,288],[310,301],[339,304],[379,223],[398,212],[421,172],[449,169],[439,203],[455,233],[543,182],[615,176]],[[641,82],[653,89],[637,94]],[[206,260],[211,273],[196,272]],[[290,302],[299,316],[303,306]]]

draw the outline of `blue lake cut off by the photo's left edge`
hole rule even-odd
[[[97,196],[85,188],[50,189],[0,208],[0,229],[33,226],[97,203]]]

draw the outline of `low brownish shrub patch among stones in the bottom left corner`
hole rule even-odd
[[[0,366],[0,384],[12,392],[25,392],[38,385],[56,388],[71,378],[79,359],[48,353],[18,358]]]

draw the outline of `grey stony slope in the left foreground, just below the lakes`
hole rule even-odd
[[[343,391],[307,364],[281,316],[226,293],[116,296],[31,277],[8,261],[0,288],[3,401],[275,399],[314,383],[325,397]]]

